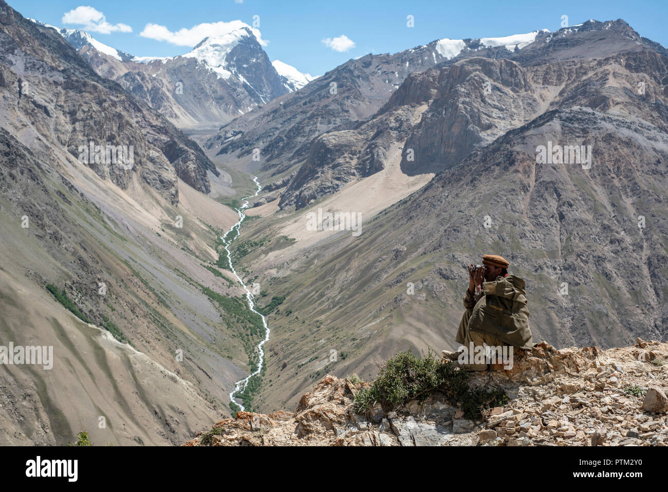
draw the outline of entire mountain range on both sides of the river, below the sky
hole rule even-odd
[[[668,52],[621,19],[311,78],[242,23],[135,57],[0,0],[1,341],[57,354],[2,365],[0,442],[176,444],[235,413],[264,334],[222,238],[251,174],[230,257],[271,337],[249,411],[456,348],[484,253],[526,281],[535,342],[665,341],[667,103]]]

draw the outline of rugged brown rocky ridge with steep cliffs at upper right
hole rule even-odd
[[[643,41],[625,21],[588,21],[542,33],[521,50],[473,53],[463,51],[409,75],[376,114],[353,128],[334,128],[315,138],[279,206],[301,209],[379,172],[391,162],[392,144],[403,149],[401,169],[412,176],[455,166],[474,150],[558,108],[621,111],[653,124],[661,119],[648,105],[654,94],[660,98],[668,90],[663,88],[665,49]],[[422,105],[401,125],[387,118]]]

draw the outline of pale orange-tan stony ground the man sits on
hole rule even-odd
[[[185,445],[668,445],[668,343],[638,339],[605,351],[540,344],[516,354],[511,370],[473,374],[470,386],[501,388],[509,398],[480,421],[463,418],[440,392],[355,414],[355,394],[368,385],[328,375],[294,413],[239,412]]]

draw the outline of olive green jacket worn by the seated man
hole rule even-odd
[[[483,282],[482,291],[475,297],[467,290],[464,307],[472,310],[468,330],[494,335],[514,347],[531,347],[524,285],[520,277],[507,275]]]

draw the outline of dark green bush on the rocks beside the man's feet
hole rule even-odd
[[[410,351],[399,352],[381,364],[371,388],[357,393],[355,412],[368,412],[377,402],[391,410],[413,398],[424,400],[434,390],[442,391],[450,404],[461,403],[464,416],[471,420],[481,418],[483,408],[508,402],[500,390],[470,389],[469,378],[464,370],[438,360],[432,350],[422,358]]]

